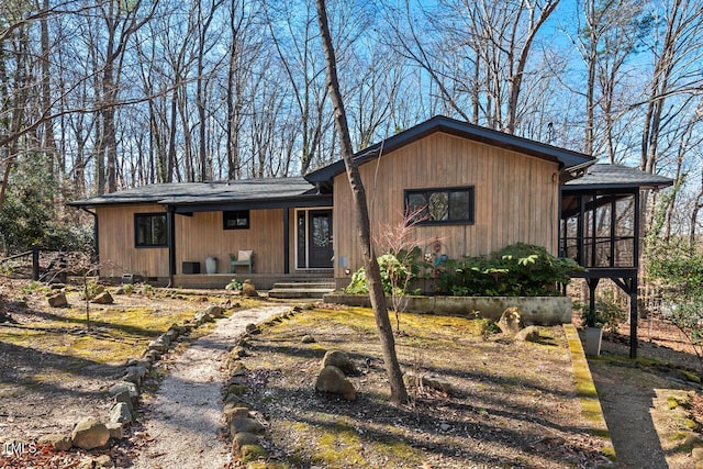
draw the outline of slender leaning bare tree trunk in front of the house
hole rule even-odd
[[[356,226],[361,244],[361,253],[364,255],[364,266],[366,269],[367,284],[369,288],[369,297],[376,325],[378,327],[381,346],[383,348],[383,359],[386,361],[386,373],[391,387],[391,401],[401,404],[408,401],[408,391],[403,382],[403,373],[395,356],[395,340],[393,339],[393,330],[390,319],[388,317],[388,309],[386,306],[386,295],[381,284],[381,272],[376,260],[376,255],[371,247],[371,228],[369,222],[368,206],[366,204],[366,190],[361,181],[359,169],[354,161],[354,152],[352,149],[352,139],[349,137],[349,127],[342,93],[339,92],[339,82],[337,79],[337,60],[335,58],[334,46],[332,45],[332,36],[327,24],[327,11],[324,0],[316,0],[317,21],[320,23],[320,32],[322,38],[322,47],[325,53],[327,64],[327,86],[332,97],[334,107],[334,118],[337,130],[341,134],[342,157],[349,178],[349,185],[354,193],[354,208],[356,214]]]

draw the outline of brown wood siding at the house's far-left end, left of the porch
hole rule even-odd
[[[134,246],[134,214],[160,212],[164,212],[164,208],[157,204],[96,209],[102,276],[136,273],[145,278],[168,277],[168,248]]]

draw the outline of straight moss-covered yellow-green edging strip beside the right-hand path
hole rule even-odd
[[[603,407],[601,407],[601,400],[595,390],[591,369],[583,353],[581,338],[573,324],[563,324],[563,332],[571,353],[571,367],[576,380],[576,393],[581,403],[581,413],[590,424],[589,432],[603,440],[603,455],[615,462],[617,460],[615,448],[605,422],[605,415],[603,415]]]

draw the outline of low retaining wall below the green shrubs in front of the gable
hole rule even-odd
[[[388,298],[387,303],[392,304]],[[324,295],[327,303],[370,306],[368,295],[334,292]],[[559,325],[571,322],[571,300],[566,297],[403,297],[403,311],[487,317],[498,321],[506,308],[520,308],[525,325]]]

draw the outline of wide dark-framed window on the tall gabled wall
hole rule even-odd
[[[414,224],[472,224],[473,187],[406,189],[405,214]]]

